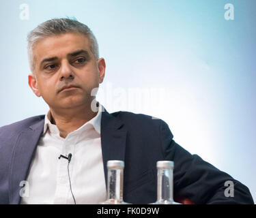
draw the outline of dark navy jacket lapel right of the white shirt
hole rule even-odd
[[[109,160],[124,161],[126,150],[126,134],[127,130],[124,127],[124,124],[119,121],[119,119],[109,114],[109,112],[106,112],[106,110],[102,112],[100,135],[106,187],[106,162]]]

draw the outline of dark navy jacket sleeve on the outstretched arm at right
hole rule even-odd
[[[183,149],[173,140],[173,134],[164,121],[160,125],[160,138],[165,159],[174,161],[174,200],[188,198],[195,204],[254,204],[248,187]],[[233,192],[227,195],[231,193],[232,184]]]

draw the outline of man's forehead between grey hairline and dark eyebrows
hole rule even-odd
[[[35,62],[48,57],[66,57],[75,50],[87,50],[90,53],[89,40],[81,33],[65,33],[46,37],[33,46]]]

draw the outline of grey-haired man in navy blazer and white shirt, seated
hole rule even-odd
[[[49,111],[1,127],[1,204],[103,202],[111,159],[125,162],[125,202],[155,202],[156,161],[171,160],[175,200],[253,204],[246,186],[176,144],[164,121],[109,114],[96,102],[106,64],[86,25],[48,20],[29,33],[28,42],[29,86]],[[227,181],[233,196],[225,195]]]

